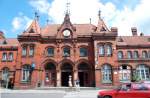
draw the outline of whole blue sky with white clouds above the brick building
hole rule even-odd
[[[73,24],[97,25],[98,11],[108,28],[117,27],[119,36],[131,36],[131,27],[138,34],[150,35],[150,0],[0,0],[0,31],[6,38],[17,38],[26,30],[38,12],[44,27],[63,22],[66,3]]]

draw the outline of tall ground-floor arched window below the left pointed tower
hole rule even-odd
[[[23,82],[29,82],[31,80],[30,70],[31,70],[30,65],[24,65],[22,67],[22,81]]]

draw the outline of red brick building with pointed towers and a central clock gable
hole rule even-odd
[[[34,19],[17,38],[0,32],[0,80],[6,86],[34,88],[68,86],[114,86],[150,79],[150,36],[118,36],[117,28],[72,24],[69,14],[62,24],[40,27]]]

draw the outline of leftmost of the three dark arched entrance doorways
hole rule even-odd
[[[56,66],[51,62],[45,65],[45,85],[56,86]]]

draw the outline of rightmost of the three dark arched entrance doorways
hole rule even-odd
[[[86,63],[81,63],[78,65],[78,78],[79,78],[79,84],[81,87],[87,87],[91,86],[90,84],[90,78],[92,71],[89,68],[89,65]]]

